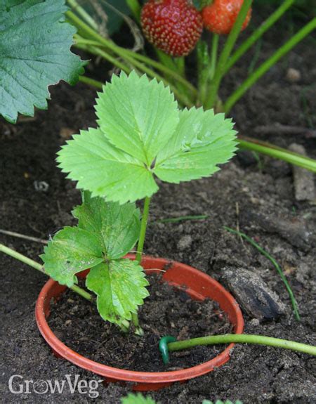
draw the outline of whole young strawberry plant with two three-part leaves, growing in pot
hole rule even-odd
[[[73,212],[78,226],[60,230],[41,258],[45,272],[67,287],[91,268],[86,287],[97,295],[102,318],[122,330],[133,320],[141,334],[137,311],[148,283],[140,261],[156,178],[211,176],[234,155],[236,132],[223,114],[179,110],[169,88],[135,72],[112,77],[98,94],[96,114],[98,128],[81,131],[58,152],[62,171],[84,190]],[[136,260],[124,259],[137,240]]]

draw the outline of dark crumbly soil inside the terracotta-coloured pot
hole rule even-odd
[[[166,372],[199,365],[223,351],[223,346],[198,346],[172,353],[169,365],[162,363],[159,339],[166,334],[178,339],[232,332],[232,325],[216,301],[192,300],[183,290],[159,282],[150,275],[150,297],[140,308],[145,336],[124,335],[100,318],[96,305],[66,291],[54,304],[48,318],[56,337],[91,360],[121,369]]]

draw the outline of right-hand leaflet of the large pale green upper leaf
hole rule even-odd
[[[162,181],[179,183],[211,176],[236,150],[232,122],[202,109],[183,111],[170,148],[157,156],[153,169]],[[188,129],[189,128],[189,129]]]

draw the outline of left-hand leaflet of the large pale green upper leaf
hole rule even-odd
[[[142,162],[112,145],[100,129],[81,131],[58,152],[57,161],[77,187],[120,204],[149,197],[158,190]]]

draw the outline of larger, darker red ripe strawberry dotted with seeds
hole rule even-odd
[[[143,32],[171,56],[186,56],[202,34],[202,16],[191,0],[150,0],[141,13]]]

